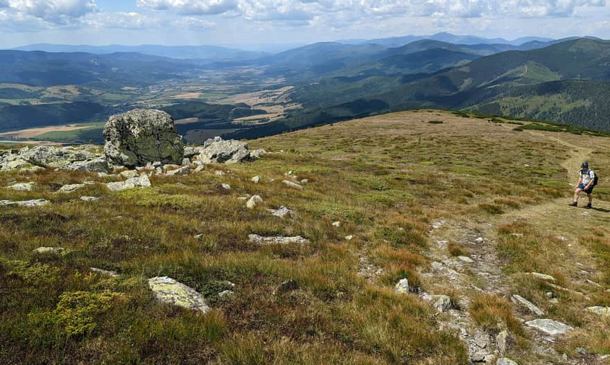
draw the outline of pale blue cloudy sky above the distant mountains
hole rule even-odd
[[[0,0],[0,48],[308,44],[438,32],[610,39],[610,0]]]

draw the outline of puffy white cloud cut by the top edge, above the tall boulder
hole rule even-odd
[[[238,10],[239,0],[137,0],[140,8],[173,10],[183,15],[216,15]]]

